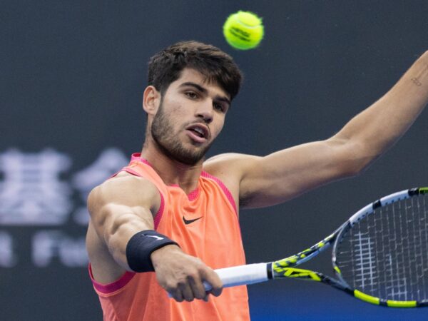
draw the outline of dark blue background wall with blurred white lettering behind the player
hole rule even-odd
[[[222,25],[263,16],[258,49]],[[102,320],[87,275],[88,190],[141,150],[148,57],[195,39],[245,73],[210,151],[265,155],[328,138],[428,49],[428,1],[2,1],[0,6],[1,320]],[[243,211],[248,263],[295,253],[362,205],[427,185],[428,113],[364,174],[284,205]],[[97,165],[101,170],[95,170]],[[83,177],[85,179],[83,179]],[[328,255],[309,266],[330,272]],[[424,320],[322,285],[252,285],[253,320]],[[232,319],[231,319],[232,320]]]

